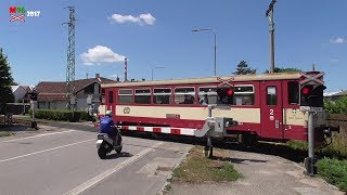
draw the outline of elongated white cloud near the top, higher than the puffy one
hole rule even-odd
[[[141,14],[139,16],[113,14],[108,20],[119,24],[138,23],[139,25],[154,25],[156,21],[150,13]]]

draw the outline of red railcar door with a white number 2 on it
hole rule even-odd
[[[282,81],[260,82],[261,136],[283,139]]]

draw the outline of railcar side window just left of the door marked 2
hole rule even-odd
[[[253,86],[234,86],[233,105],[254,105],[254,87]]]

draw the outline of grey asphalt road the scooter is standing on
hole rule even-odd
[[[124,152],[101,160],[93,128],[57,126],[0,139],[1,195],[156,194],[191,147],[124,136]]]

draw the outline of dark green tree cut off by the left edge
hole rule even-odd
[[[8,63],[8,57],[4,56],[0,48],[0,114],[4,113],[5,103],[14,102],[11,83],[13,83],[11,67]]]

